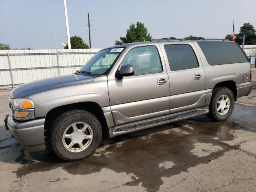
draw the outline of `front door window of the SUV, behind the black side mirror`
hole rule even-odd
[[[159,54],[155,46],[133,48],[122,61],[123,65],[132,65],[134,74],[162,71]]]

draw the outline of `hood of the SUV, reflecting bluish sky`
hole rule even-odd
[[[92,82],[94,78],[95,76],[72,74],[72,75],[58,76],[58,77],[38,80],[38,81],[26,83],[16,87],[14,90],[10,92],[10,98],[23,98],[30,94],[34,94],[37,92],[42,92],[42,91],[46,91],[54,88],[88,83],[88,82]]]

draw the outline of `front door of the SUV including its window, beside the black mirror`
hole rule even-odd
[[[170,86],[156,46],[132,48],[121,65],[134,67],[133,76],[108,76],[114,124],[126,124],[170,113]]]

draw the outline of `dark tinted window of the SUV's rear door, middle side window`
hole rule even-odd
[[[164,49],[172,71],[198,67],[195,53],[189,45],[165,45]]]

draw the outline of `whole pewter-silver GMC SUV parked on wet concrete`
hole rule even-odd
[[[110,138],[206,114],[227,119],[252,90],[234,42],[164,38],[103,49],[79,71],[10,92],[6,129],[29,151],[72,161]]]

